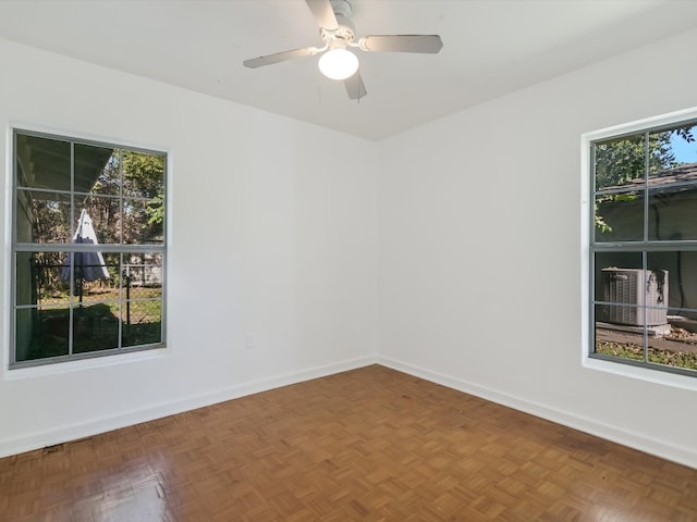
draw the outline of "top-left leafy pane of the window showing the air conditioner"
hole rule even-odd
[[[644,133],[597,141],[594,157],[596,190],[640,183],[646,172]]]

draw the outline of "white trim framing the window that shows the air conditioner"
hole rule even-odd
[[[652,384],[697,390],[697,378],[693,376],[592,359],[588,356],[588,347],[590,346],[590,209],[592,200],[590,192],[590,142],[688,120],[697,120],[697,107],[584,133],[580,136],[580,365]]]

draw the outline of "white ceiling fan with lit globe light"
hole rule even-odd
[[[356,40],[351,22],[353,7],[350,0],[305,0],[305,3],[319,25],[319,36],[325,45],[252,58],[242,62],[245,67],[256,69],[322,53],[318,62],[321,73],[331,79],[343,80],[348,98],[357,100],[366,96],[367,91],[358,72],[358,58],[351,49],[436,53],[443,47],[438,35],[372,35]]]

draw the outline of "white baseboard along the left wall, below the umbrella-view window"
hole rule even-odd
[[[94,419],[85,423],[61,426],[54,430],[23,436],[22,438],[0,440],[0,458],[90,437],[112,430],[132,426],[140,422],[161,419],[163,417],[182,413],[196,408],[224,402],[225,400],[237,399],[247,395],[302,383],[313,378],[325,377],[327,375],[355,370],[375,363],[375,356],[362,357],[335,364],[310,368],[301,372],[277,375],[261,381],[242,383],[229,388],[209,391],[195,397],[186,397],[172,402],[149,406],[144,409],[119,413],[117,415]]]

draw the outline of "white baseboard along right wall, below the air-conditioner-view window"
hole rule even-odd
[[[596,435],[600,438],[644,451],[645,453],[655,455],[657,457],[677,462],[678,464],[697,469],[697,451],[695,448],[680,447],[667,444],[662,440],[637,435],[636,433],[627,432],[617,426],[611,426],[592,419],[574,415],[565,411],[549,408],[545,405],[521,399],[519,397],[513,397],[485,386],[468,383],[460,378],[433,372],[425,368],[415,366],[395,359],[378,357],[377,363],[407,373],[415,377],[420,377],[458,391],[464,391],[499,405],[508,406],[515,410],[523,411],[564,426],[573,427],[580,432]]]

